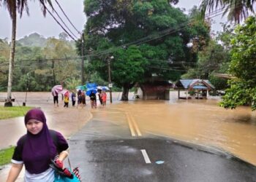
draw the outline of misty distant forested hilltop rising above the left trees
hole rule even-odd
[[[45,47],[47,39],[38,33],[31,33],[29,36],[24,36],[17,41],[18,44],[27,47]]]

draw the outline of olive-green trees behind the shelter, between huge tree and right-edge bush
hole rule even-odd
[[[198,54],[196,68],[190,68],[183,79],[209,79],[216,90],[225,90],[228,87],[227,80],[214,76],[215,73],[227,74],[230,65],[230,39],[233,36],[232,28],[224,26],[224,31],[219,33],[216,39],[211,39],[207,47]],[[221,41],[222,44],[219,44]]]

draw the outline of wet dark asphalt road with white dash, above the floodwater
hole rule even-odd
[[[69,139],[82,181],[256,181],[256,167],[230,154],[91,120]]]

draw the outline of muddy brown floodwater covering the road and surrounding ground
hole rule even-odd
[[[25,93],[18,92],[15,94],[16,98],[20,99],[19,105],[22,105]],[[4,96],[4,93],[1,95]],[[108,100],[106,108],[91,110],[88,104],[85,110],[82,108],[64,110],[62,107],[53,108],[53,101],[49,92],[29,92],[27,106],[41,106],[51,116],[62,114],[62,123],[50,122],[49,125],[53,129],[61,129],[65,135],[71,133],[70,128],[67,127],[70,125],[70,119],[72,121],[80,120],[79,127],[73,128],[72,133],[86,124],[85,118],[87,120],[90,118],[86,111],[91,111],[96,119],[125,124],[126,126],[128,126],[126,116],[128,112],[138,124],[143,135],[160,135],[211,146],[228,151],[256,165],[255,111],[251,111],[249,107],[227,110],[218,106],[219,98],[178,100],[177,95],[177,92],[170,92],[170,100],[121,102],[118,101],[121,94],[116,92],[113,93],[113,104],[109,104]],[[132,93],[129,94],[129,98],[132,98]],[[86,99],[86,102],[89,103],[89,98],[86,97]],[[80,109],[79,113],[83,116],[76,114],[77,109]],[[65,113],[64,116],[63,113]]]

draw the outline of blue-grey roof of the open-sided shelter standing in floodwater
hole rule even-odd
[[[208,79],[180,79],[176,83],[176,87],[182,89],[214,89],[214,85],[208,81]]]

